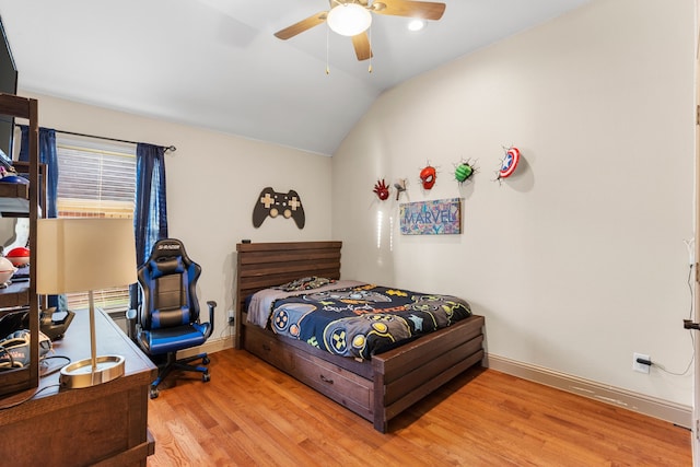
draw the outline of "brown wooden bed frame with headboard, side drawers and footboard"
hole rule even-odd
[[[340,279],[341,242],[242,243],[236,246],[235,348],[245,349],[385,433],[388,421],[483,359],[483,316],[474,315],[360,361],[247,324],[245,299],[307,276]]]

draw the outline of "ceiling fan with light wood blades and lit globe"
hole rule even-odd
[[[440,20],[445,3],[413,0],[329,0],[330,10],[320,11],[305,20],[275,33],[287,40],[324,22],[334,32],[350,36],[358,60],[372,57],[372,47],[366,30],[372,24],[372,14],[408,16],[421,20]]]

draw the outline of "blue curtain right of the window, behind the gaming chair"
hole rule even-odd
[[[165,201],[165,148],[138,143],[136,147],[136,261],[141,266],[151,254],[153,244],[167,238]],[[129,289],[131,308],[138,307],[138,287]]]

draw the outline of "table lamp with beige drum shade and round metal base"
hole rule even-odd
[[[59,218],[37,220],[36,292],[85,292],[90,299],[91,358],[61,370],[61,387],[95,386],[124,374],[124,357],[97,355],[93,291],[137,281],[131,219]]]

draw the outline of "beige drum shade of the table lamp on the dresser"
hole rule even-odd
[[[61,294],[137,281],[131,219],[37,220],[36,292]]]

